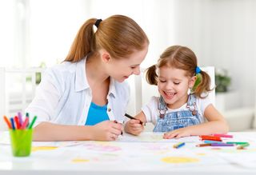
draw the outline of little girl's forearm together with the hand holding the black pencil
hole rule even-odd
[[[131,119],[130,121],[127,121],[125,125],[125,131],[126,133],[131,133],[137,136],[138,134],[142,133],[144,129],[144,126],[140,124],[140,121],[142,121],[143,123],[146,123],[146,116],[141,111],[134,118],[138,120]]]

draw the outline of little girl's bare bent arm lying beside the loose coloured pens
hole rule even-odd
[[[204,116],[207,121],[199,125],[191,125],[186,128],[176,129],[164,134],[164,138],[186,137],[196,135],[208,135],[213,133],[227,133],[229,126],[222,114],[210,104],[206,107]]]

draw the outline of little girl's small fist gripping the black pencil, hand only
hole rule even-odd
[[[139,120],[131,119],[130,121],[126,122],[126,125],[125,125],[126,133],[131,133],[135,136],[138,136],[138,134],[142,133],[143,130],[144,130],[144,126],[140,124]]]

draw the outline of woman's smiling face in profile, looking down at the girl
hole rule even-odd
[[[110,77],[118,82],[124,82],[132,74],[140,74],[140,64],[146,58],[148,46],[143,50],[134,51],[128,58],[114,59],[110,58],[107,72]]]

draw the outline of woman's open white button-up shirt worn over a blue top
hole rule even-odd
[[[34,100],[26,109],[30,113],[30,119],[35,115],[38,117],[34,126],[42,121],[62,125],[85,125],[92,100],[85,62],[86,58],[75,63],[62,62],[44,72]],[[107,95],[107,114],[110,121],[124,120],[129,98],[128,84],[110,78]]]

